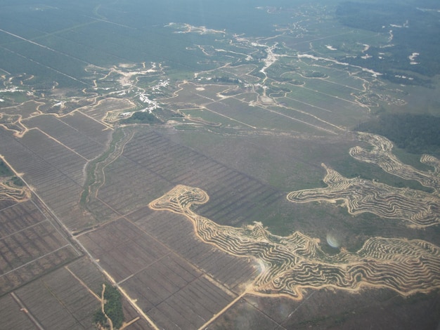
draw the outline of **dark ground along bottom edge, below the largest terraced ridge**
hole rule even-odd
[[[259,311],[270,315],[273,322],[282,326],[281,329],[348,330],[364,329],[365,326],[382,329],[392,328],[396,324],[405,324],[408,329],[436,329],[438,324],[432,318],[440,310],[439,299],[436,293],[430,294],[427,299],[422,297],[416,295],[410,299],[401,298],[392,291],[383,289],[359,294],[331,290],[313,291],[303,301],[292,301],[283,297],[246,296],[244,300],[252,306],[254,312],[251,310],[245,316],[243,310],[234,305],[210,328],[222,329],[224,324],[233,324],[236,329],[249,329],[247,324],[261,319],[261,316],[255,315],[255,311]],[[337,303],[328,304],[329,299]],[[380,310],[377,310],[377,304],[381,305]],[[250,310],[249,306],[246,310]],[[414,317],[414,312],[418,317]],[[235,319],[239,321],[234,322]]]

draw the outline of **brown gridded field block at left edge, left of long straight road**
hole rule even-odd
[[[0,251],[0,295],[78,256],[32,201],[0,210]]]

